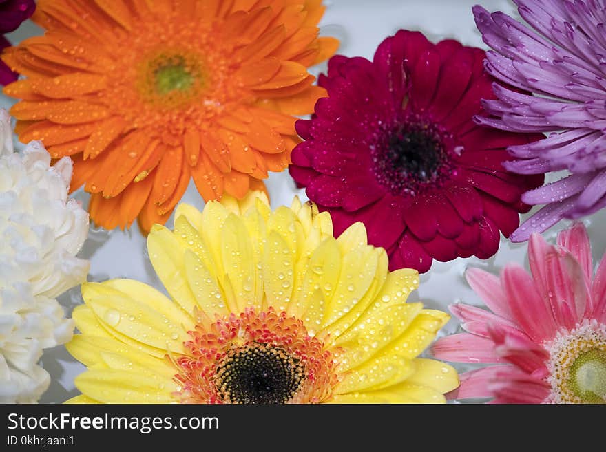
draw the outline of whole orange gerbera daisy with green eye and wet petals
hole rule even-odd
[[[3,60],[23,142],[74,160],[105,228],[164,223],[190,176],[205,200],[243,197],[282,171],[293,115],[324,89],[307,67],[335,52],[317,37],[322,0],[41,0],[44,36]]]

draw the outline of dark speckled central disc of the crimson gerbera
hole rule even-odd
[[[371,147],[373,172],[377,182],[394,195],[414,196],[452,173],[452,156],[459,149],[452,133],[430,118],[408,114],[379,133]]]

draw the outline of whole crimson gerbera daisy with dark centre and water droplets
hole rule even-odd
[[[426,272],[432,259],[492,256],[529,210],[521,194],[543,175],[515,175],[506,147],[542,138],[477,125],[492,98],[483,50],[452,40],[433,44],[400,30],[373,61],[334,56],[318,83],[306,140],[290,167],[297,184],[333,217],[335,233],[361,221],[390,267]]]

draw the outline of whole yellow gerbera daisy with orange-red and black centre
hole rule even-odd
[[[417,358],[448,314],[406,303],[416,270],[388,272],[361,223],[338,239],[328,213],[254,192],[204,211],[180,204],[149,257],[171,299],[138,281],[83,285],[89,369],[70,402],[444,402],[444,363]]]

